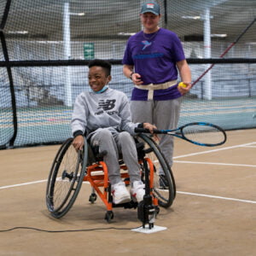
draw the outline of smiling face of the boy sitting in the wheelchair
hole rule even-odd
[[[94,66],[90,67],[88,73],[88,80],[90,88],[93,91],[102,90],[102,88],[109,83],[111,76],[106,74],[106,71],[102,67]]]

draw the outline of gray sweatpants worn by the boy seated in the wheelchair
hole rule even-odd
[[[90,138],[92,146],[99,146],[99,152],[106,150],[103,157],[108,166],[109,182],[113,185],[121,181],[119,168],[119,154],[128,168],[131,183],[140,181],[140,166],[137,160],[137,148],[133,137],[127,131],[114,131],[108,128],[98,129]]]

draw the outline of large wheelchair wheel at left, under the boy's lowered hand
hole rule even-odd
[[[87,143],[84,150],[73,148],[73,138],[61,145],[49,172],[46,205],[55,218],[61,218],[73,206],[83,183],[87,164]]]

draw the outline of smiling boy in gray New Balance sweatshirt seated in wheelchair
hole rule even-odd
[[[90,90],[82,92],[74,103],[72,116],[73,147],[82,149],[84,135],[99,153],[106,152],[103,160],[108,166],[113,203],[132,200],[143,201],[144,183],[141,181],[137,160],[137,148],[132,136],[135,128],[156,129],[149,123],[132,123],[129,100],[125,93],[108,87],[111,80],[111,64],[94,60],[89,63]],[[157,138],[156,136],[154,136]],[[125,188],[119,173],[119,154],[128,167],[131,195]]]

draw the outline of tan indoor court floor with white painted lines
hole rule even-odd
[[[256,130],[227,135],[216,148],[176,138],[177,197],[154,223],[167,230],[153,234],[131,231],[141,225],[134,209],[113,208],[108,224],[86,183],[70,212],[51,218],[45,189],[59,146],[0,150],[0,230],[38,229],[0,232],[0,255],[255,255]]]

